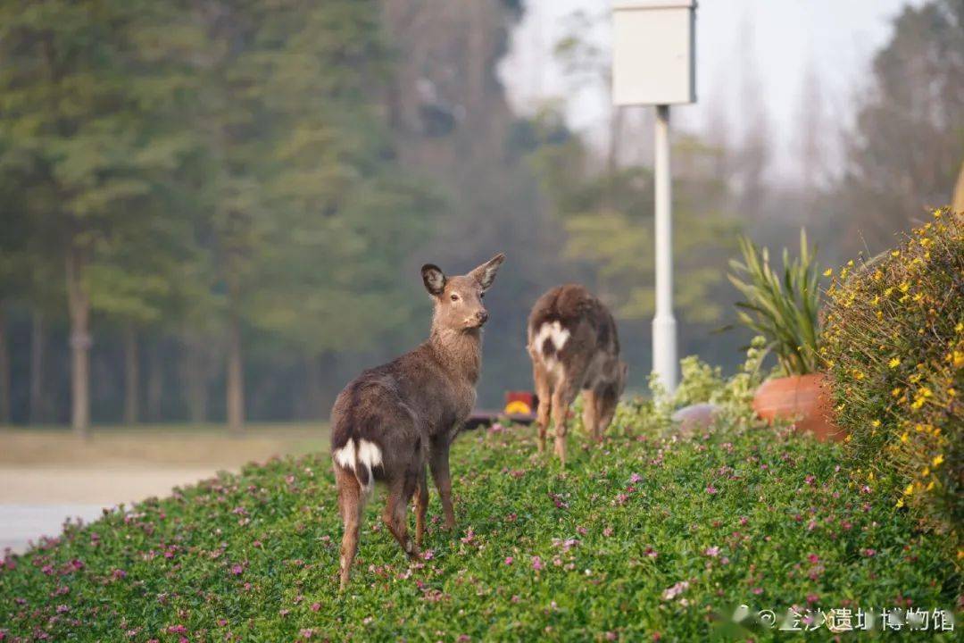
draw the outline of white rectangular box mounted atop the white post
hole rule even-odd
[[[616,105],[696,100],[696,0],[614,0]]]

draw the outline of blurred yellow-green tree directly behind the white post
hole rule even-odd
[[[538,148],[530,158],[568,233],[566,254],[595,268],[595,289],[617,317],[644,319],[654,311],[652,173],[639,167],[593,171],[590,153],[571,138]],[[715,266],[724,261],[726,240],[736,229],[726,210],[726,182],[716,174],[718,153],[694,136],[680,136],[674,145],[674,253],[681,274],[675,296],[690,322],[719,317],[712,295],[722,276]]]

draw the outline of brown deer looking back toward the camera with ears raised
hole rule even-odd
[[[382,520],[410,558],[418,556],[425,530],[426,461],[442,498],[445,526],[455,526],[448,448],[475,404],[482,325],[489,318],[482,297],[504,259],[495,255],[468,275],[451,278],[436,265],[422,266],[422,281],[435,300],[428,340],[394,362],[364,371],[335,400],[332,459],[344,523],[342,590],[358,550],[364,502],[376,480],[388,487]],[[413,495],[415,543],[406,515]]]

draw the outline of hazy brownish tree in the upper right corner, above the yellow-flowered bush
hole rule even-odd
[[[964,6],[908,6],[873,60],[839,188],[851,252],[889,247],[946,203],[964,158]],[[915,214],[916,213],[916,214]]]

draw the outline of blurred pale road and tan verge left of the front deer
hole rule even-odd
[[[219,469],[327,446],[324,423],[252,424],[240,437],[219,425],[113,427],[87,440],[64,428],[0,428],[0,554],[59,535],[67,518],[90,521],[102,507],[168,496]]]

